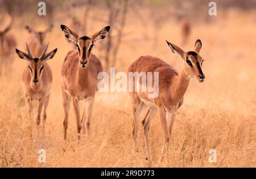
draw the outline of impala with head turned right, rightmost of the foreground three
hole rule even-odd
[[[201,41],[195,43],[195,51],[184,52],[178,46],[167,41],[171,51],[183,60],[183,69],[180,74],[162,59],[152,56],[142,56],[133,62],[129,72],[158,72],[159,73],[159,96],[150,99],[147,92],[130,92],[131,106],[133,110],[133,139],[134,150],[136,149],[136,138],[138,131],[139,114],[144,106],[146,106],[147,114],[142,121],[144,129],[144,142],[146,144],[146,155],[148,167],[151,167],[152,160],[148,148],[148,130],[150,121],[156,113],[159,113],[160,122],[163,129],[164,141],[162,155],[159,161],[162,161],[164,154],[168,160],[168,146],[170,142],[172,126],[174,125],[177,109],[183,104],[183,96],[186,92],[190,78],[196,78],[199,82],[204,82],[204,74],[201,70],[204,59],[200,56]],[[154,79],[154,78],[153,78]],[[152,82],[154,84],[154,82]],[[135,85],[135,84],[134,84]],[[139,81],[141,86],[141,80]]]

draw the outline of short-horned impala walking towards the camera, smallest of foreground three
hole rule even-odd
[[[26,44],[27,45],[27,44]],[[19,58],[28,62],[28,66],[23,71],[22,86],[25,95],[25,100],[28,106],[28,114],[30,119],[33,117],[32,100],[38,100],[38,116],[36,117],[37,125],[40,124],[41,112],[43,112],[43,123],[46,122],[46,108],[49,103],[49,95],[52,86],[52,70],[47,61],[52,59],[57,52],[57,49],[46,54],[47,47],[43,50],[42,55],[38,58],[32,57],[30,49],[27,45],[27,53],[16,49]]]

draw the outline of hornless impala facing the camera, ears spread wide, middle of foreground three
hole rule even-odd
[[[68,52],[64,59],[61,71],[61,88],[63,92],[63,107],[65,111],[64,118],[64,139],[67,138],[68,113],[71,103],[75,110],[77,133],[80,139],[80,131],[89,135],[90,118],[92,116],[92,108],[94,95],[97,91],[97,75],[102,71],[100,60],[92,54],[94,42],[104,39],[108,34],[110,26],[103,28],[101,31],[94,33],[92,36],[79,37],[76,32],[65,25],[61,25],[61,29],[67,39],[73,41],[77,50]],[[85,100],[85,109],[80,120],[79,101]],[[86,127],[85,127],[86,123]]]

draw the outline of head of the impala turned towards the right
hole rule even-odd
[[[168,41],[166,41],[168,46],[170,46],[173,53],[183,59],[183,70],[187,76],[190,78],[196,78],[199,82],[204,82],[205,76],[202,71],[202,65],[204,59],[200,56],[199,52],[202,47],[201,40],[197,40],[195,43],[195,50],[184,52],[179,46],[176,46]]]

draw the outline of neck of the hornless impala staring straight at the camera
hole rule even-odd
[[[81,68],[79,66],[79,70],[77,71],[77,86],[79,89],[84,89],[88,86],[89,83],[89,62],[88,66],[85,68]]]

